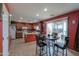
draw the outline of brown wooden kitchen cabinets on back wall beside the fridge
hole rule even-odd
[[[22,22],[15,22],[14,23],[16,26],[16,38],[22,38],[23,33],[22,33],[22,27],[27,27],[27,29],[31,30],[34,29],[34,24],[31,23],[22,23]]]

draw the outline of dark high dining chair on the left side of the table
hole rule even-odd
[[[36,35],[36,55],[37,55],[37,50],[38,50],[38,47],[39,47],[39,51],[40,51],[40,56],[42,55],[45,55],[47,54],[47,48],[46,48],[46,51],[45,53],[44,52],[44,48],[47,46],[47,44],[44,42],[45,40],[45,37],[40,37],[40,35]]]

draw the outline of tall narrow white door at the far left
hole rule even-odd
[[[3,29],[3,56],[8,56],[8,12],[3,5],[3,15],[2,15],[2,29]]]

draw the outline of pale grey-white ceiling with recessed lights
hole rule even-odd
[[[28,23],[39,22],[79,9],[79,3],[9,3],[9,6],[14,21]],[[47,8],[46,12],[44,8]]]

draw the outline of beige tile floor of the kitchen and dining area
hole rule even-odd
[[[10,56],[35,56],[36,42],[24,43],[23,39],[11,41]],[[68,49],[68,56],[79,56],[78,52]]]

